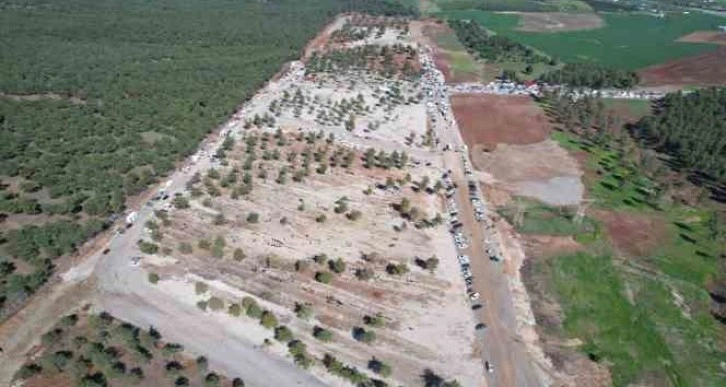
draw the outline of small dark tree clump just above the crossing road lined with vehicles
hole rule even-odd
[[[561,69],[542,74],[540,80],[554,85],[589,87],[592,89],[627,89],[638,84],[633,71],[611,69],[597,63],[567,63]]]

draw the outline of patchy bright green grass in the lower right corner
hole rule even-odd
[[[609,364],[616,386],[720,385],[719,362],[726,361],[724,329],[711,317],[704,290],[719,272],[709,210],[680,204],[654,207],[646,194],[653,183],[621,163],[622,154],[583,144],[567,133],[555,132],[553,139],[565,149],[588,153],[584,167],[599,171],[585,180],[595,207],[623,216],[657,217],[667,229],[659,246],[644,257],[615,259],[607,239],[593,239],[582,253],[540,264],[538,270],[563,306],[563,333],[582,340],[581,350],[591,359]],[[546,219],[539,217],[542,221]],[[563,229],[556,218],[537,227],[551,235],[561,235]]]

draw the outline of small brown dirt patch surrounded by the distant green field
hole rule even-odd
[[[594,30],[602,28],[605,21],[593,13],[520,13],[518,31],[525,32],[563,32]]]

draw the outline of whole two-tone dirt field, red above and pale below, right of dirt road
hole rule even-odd
[[[577,161],[548,140],[553,127],[531,98],[458,94],[451,100],[474,167],[499,188],[553,205],[580,201]]]

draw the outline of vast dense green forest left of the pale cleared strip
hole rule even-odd
[[[393,0],[0,8],[0,319],[336,14],[414,13]]]

